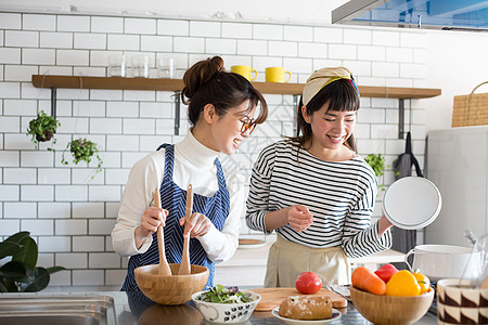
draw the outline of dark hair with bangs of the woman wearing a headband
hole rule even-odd
[[[322,88],[311,100],[308,102],[307,115],[311,116],[314,112],[320,110],[322,106],[329,103],[328,110],[358,110],[359,109],[359,93],[355,86],[348,79],[335,80],[324,88]],[[304,106],[303,99],[297,107],[296,115],[296,136],[290,138],[297,141],[300,146],[308,143],[312,136],[312,130],[310,123],[308,123],[301,114],[301,107]],[[310,142],[311,145],[311,142]],[[345,145],[357,153],[356,141],[352,134],[347,139]]]

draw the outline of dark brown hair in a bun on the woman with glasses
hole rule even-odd
[[[207,104],[213,104],[221,116],[249,100],[246,113],[261,104],[256,123],[262,123],[268,116],[268,105],[261,93],[243,76],[226,72],[220,56],[195,63],[184,73],[183,83],[181,101],[189,105],[188,116],[193,126]]]

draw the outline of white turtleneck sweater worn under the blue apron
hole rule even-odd
[[[187,136],[175,145],[174,182],[180,188],[191,183],[193,193],[214,196],[219,190],[217,167],[214,164],[219,152],[200,143],[188,132]],[[112,243],[123,257],[145,252],[153,239],[150,236],[141,248],[136,247],[134,230],[141,223],[144,210],[154,206],[153,193],[159,188],[165,171],[165,150],[154,152],[137,161],[132,167],[120,200],[117,223],[112,231]],[[223,168],[223,166],[222,166]],[[230,259],[237,248],[240,218],[244,209],[244,182],[237,168],[223,170],[230,196],[230,210],[222,231],[214,224],[203,236],[196,238],[214,262]],[[163,207],[165,208],[165,207]]]

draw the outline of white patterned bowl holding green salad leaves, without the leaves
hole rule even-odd
[[[200,298],[202,294],[209,290],[200,291],[192,295],[192,300],[196,308],[204,315],[205,320],[215,323],[240,323],[245,322],[251,317],[256,306],[261,300],[261,296],[248,290],[240,290],[246,297],[251,296],[251,302],[243,303],[218,303],[206,302]]]

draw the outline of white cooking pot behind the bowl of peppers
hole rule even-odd
[[[411,272],[420,270],[431,281],[447,277],[477,278],[480,274],[481,253],[473,249],[452,245],[419,245],[404,256]],[[413,255],[410,265],[408,258]],[[465,270],[465,271],[464,271]]]

